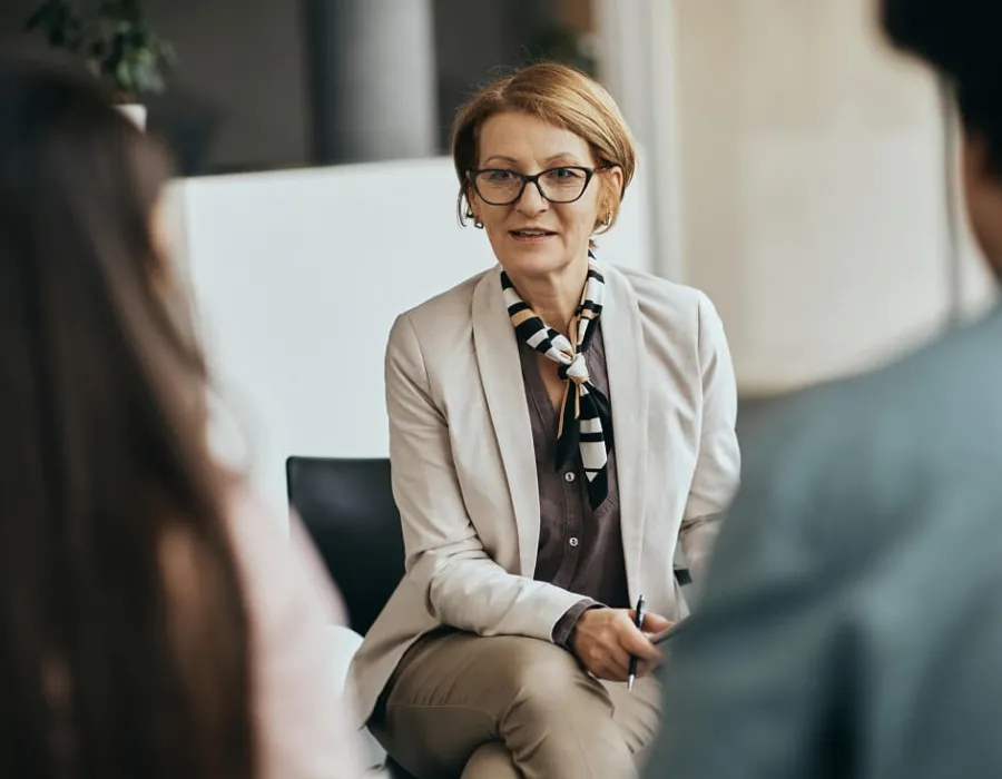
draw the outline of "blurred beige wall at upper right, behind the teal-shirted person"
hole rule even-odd
[[[743,389],[933,332],[952,305],[940,105],[872,0],[672,2],[681,275],[717,303]]]

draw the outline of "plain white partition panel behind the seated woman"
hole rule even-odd
[[[219,445],[276,509],[289,454],[385,456],[393,319],[493,264],[487,236],[456,223],[451,160],[198,178],[175,195],[234,412]],[[648,268],[647,235],[644,199],[628,195],[600,255]]]

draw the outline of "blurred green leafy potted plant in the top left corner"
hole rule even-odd
[[[164,91],[177,59],[174,47],[149,28],[143,0],[42,0],[26,27],[81,57],[140,126],[144,97]]]

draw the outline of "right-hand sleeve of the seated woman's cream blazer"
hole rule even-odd
[[[703,389],[699,454],[679,541],[694,579],[701,579],[727,509],[740,479],[737,385],[724,324],[706,295],[699,299],[698,358]]]

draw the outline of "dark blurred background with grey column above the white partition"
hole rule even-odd
[[[439,154],[499,66],[596,66],[579,0],[3,0],[0,33],[47,6],[138,9],[171,45],[168,88],[145,102],[189,176]]]

